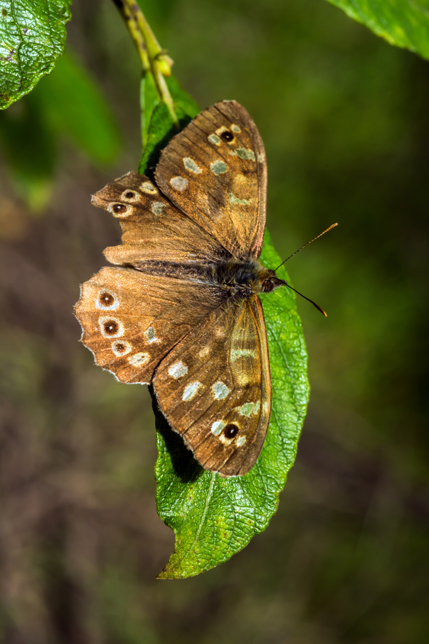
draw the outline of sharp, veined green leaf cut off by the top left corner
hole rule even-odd
[[[71,0],[0,0],[0,109],[50,73],[64,51]]]

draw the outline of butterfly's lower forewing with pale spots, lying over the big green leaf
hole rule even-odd
[[[271,378],[258,296],[209,314],[154,375],[161,412],[196,459],[224,476],[246,474],[264,444]]]

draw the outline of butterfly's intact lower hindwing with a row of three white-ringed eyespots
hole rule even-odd
[[[149,384],[161,359],[219,304],[210,286],[105,267],[82,284],[75,314],[97,365],[123,383]]]

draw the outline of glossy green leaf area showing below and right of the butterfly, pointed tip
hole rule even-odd
[[[280,263],[265,232],[261,261]],[[287,279],[286,271],[278,274]],[[160,579],[202,573],[228,560],[264,531],[293,465],[309,397],[307,353],[295,295],[288,288],[262,294],[268,332],[273,410],[255,466],[244,477],[203,469],[157,411],[155,466],[158,514],[176,533],[176,549]]]

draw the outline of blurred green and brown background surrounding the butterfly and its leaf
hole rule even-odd
[[[146,388],[78,343],[78,284],[118,243],[90,194],[140,158],[140,67],[109,0],[0,115],[0,639],[6,644],[426,644],[429,66],[324,0],[141,0],[201,108],[236,99],[268,156],[268,228],[310,356],[277,515],[230,562],[154,580]]]

